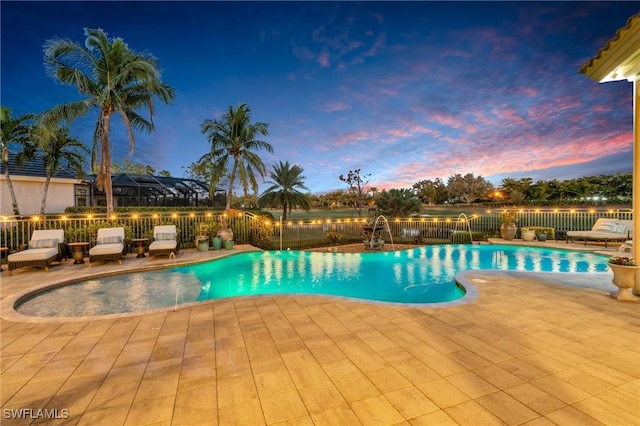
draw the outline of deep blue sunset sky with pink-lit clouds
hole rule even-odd
[[[46,75],[42,46],[102,28],[160,60],[176,90],[156,131],[118,162],[183,175],[206,118],[246,103],[269,124],[267,167],[304,168],[314,193],[410,187],[456,173],[570,179],[630,172],[632,85],[578,74],[636,2],[12,2],[1,10],[2,105],[14,115],[79,99]],[[72,132],[90,146],[96,114]],[[266,188],[262,185],[261,189]]]

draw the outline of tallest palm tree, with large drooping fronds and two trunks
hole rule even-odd
[[[149,53],[136,53],[121,38],[108,38],[101,29],[85,28],[85,47],[67,39],[48,40],[44,45],[45,63],[52,77],[62,84],[75,86],[84,99],[58,105],[48,111],[49,122],[71,122],[98,110],[93,137],[91,167],[96,168],[96,151],[100,160],[96,184],[104,190],[107,213],[113,212],[111,187],[111,116],[118,113],[129,135],[129,151],[135,145],[133,130],[150,133],[154,129],[154,98],[168,104],[174,90],[160,80],[158,60]],[[138,114],[149,110],[149,120]]]

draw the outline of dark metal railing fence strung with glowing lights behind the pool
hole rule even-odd
[[[384,218],[378,220],[382,238],[394,243],[442,244],[469,242],[499,235],[503,210],[488,210],[465,217]],[[588,230],[598,218],[632,220],[631,210],[596,209],[521,209],[516,210],[518,227],[544,226],[555,230]],[[316,219],[273,221],[247,212],[48,215],[29,218],[3,217],[0,242],[10,252],[29,242],[36,229],[64,229],[67,242],[92,242],[98,228],[123,226],[131,238],[152,237],[155,225],[175,224],[181,248],[194,247],[200,225],[216,222],[232,229],[238,244],[253,244],[262,249],[299,249],[362,242],[370,238],[367,219]]]

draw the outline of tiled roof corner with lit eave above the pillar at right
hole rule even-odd
[[[631,16],[579,72],[600,83],[633,81],[640,74],[640,13]]]

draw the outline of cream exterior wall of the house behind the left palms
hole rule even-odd
[[[13,190],[18,200],[21,215],[40,213],[45,178],[32,176],[11,176]],[[52,178],[47,192],[46,213],[62,213],[65,208],[75,205],[75,184],[77,179]],[[13,215],[11,194],[4,175],[0,176],[0,204],[2,215]]]

